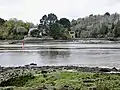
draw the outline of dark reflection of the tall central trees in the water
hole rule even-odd
[[[59,50],[46,50],[46,51],[40,51],[39,53],[42,62],[44,64],[62,64],[62,63],[68,63],[70,58],[70,51],[59,51]]]

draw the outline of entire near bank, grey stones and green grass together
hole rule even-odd
[[[120,69],[116,69],[115,67],[112,69],[98,67],[78,67],[78,66],[39,67],[36,66],[36,64],[26,65],[23,67],[1,67],[0,86],[5,87],[12,86],[12,88],[13,87],[17,88],[12,90],[30,90],[30,87],[36,88],[31,90],[45,90],[45,88],[47,88],[47,90],[64,90],[62,88],[68,88],[67,90],[113,90],[113,89],[88,89],[88,88],[98,88],[96,86],[97,85],[96,83],[98,81],[100,81],[99,85],[101,85],[102,83],[106,83],[109,85],[112,84],[112,82],[114,82],[114,84],[118,82],[117,85],[119,85],[120,84],[118,81],[118,79],[120,79],[119,73]],[[11,80],[13,82],[12,84],[10,83]],[[21,86],[19,86],[19,83],[21,82],[24,85],[20,84]],[[19,88],[24,87],[29,89],[23,88],[18,89],[18,87]]]

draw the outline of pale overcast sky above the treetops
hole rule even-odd
[[[72,20],[105,12],[120,13],[120,0],[0,0],[0,18],[34,24],[49,13]]]

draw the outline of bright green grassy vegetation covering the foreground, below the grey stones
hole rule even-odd
[[[119,74],[57,71],[12,78],[0,86],[13,86],[10,90],[120,90],[119,81]]]

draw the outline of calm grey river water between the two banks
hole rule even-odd
[[[80,44],[79,42],[44,42],[0,45],[0,65],[79,65],[120,68],[120,44]]]

